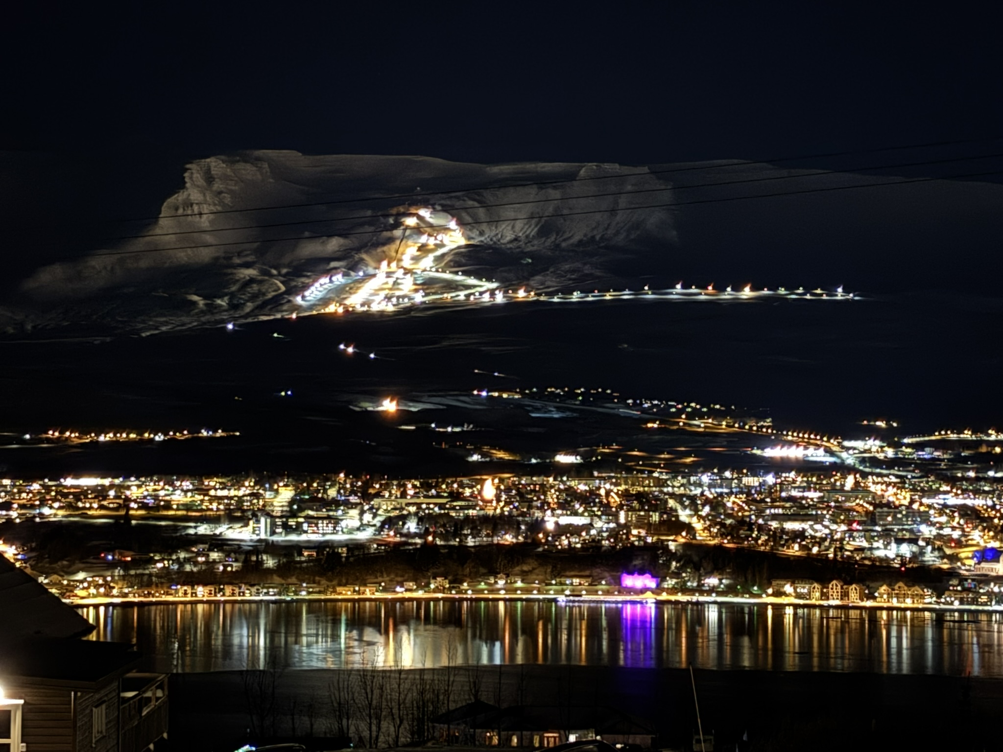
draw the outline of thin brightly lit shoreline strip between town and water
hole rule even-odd
[[[784,598],[735,598],[730,596],[655,596],[653,594],[639,594],[628,596],[565,596],[551,594],[417,594],[417,593],[388,593],[388,594],[368,594],[368,595],[345,595],[345,596],[214,596],[214,597],[188,597],[188,598],[87,598],[64,600],[68,606],[73,608],[89,608],[94,606],[164,606],[164,605],[191,605],[191,604],[261,604],[261,603],[324,603],[324,602],[372,602],[389,603],[402,601],[530,601],[544,603],[562,604],[595,604],[595,605],[615,605],[615,604],[678,604],[678,605],[708,605],[727,604],[729,606],[768,606],[768,607],[797,607],[809,609],[869,609],[873,611],[905,611],[905,612],[926,612],[926,613],[951,613],[951,612],[974,612],[977,614],[1003,614],[1003,606],[975,606],[975,605],[946,605],[946,604],[895,604],[879,603],[877,601],[866,601],[861,603],[847,603],[841,601],[799,601]]]

